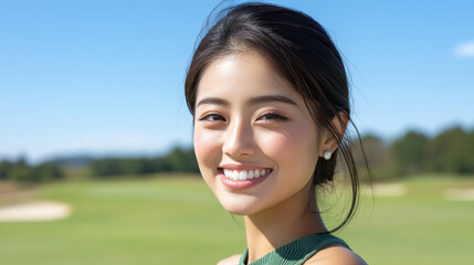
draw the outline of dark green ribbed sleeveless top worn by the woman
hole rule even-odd
[[[331,234],[310,234],[281,246],[249,264],[246,263],[249,248],[245,248],[239,265],[301,265],[316,254],[316,252],[329,245],[341,245],[349,248],[346,242]]]

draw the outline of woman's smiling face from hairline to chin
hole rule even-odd
[[[259,54],[211,63],[196,103],[199,168],[225,210],[250,215],[308,191],[319,130],[302,96]]]

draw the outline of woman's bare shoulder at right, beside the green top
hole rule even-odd
[[[317,252],[305,262],[305,265],[367,265],[367,263],[344,246],[329,246]]]

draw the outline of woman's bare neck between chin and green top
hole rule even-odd
[[[316,202],[312,200],[307,208],[308,192],[244,218],[249,263],[303,236],[327,231]]]

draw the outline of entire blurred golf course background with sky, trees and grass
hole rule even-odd
[[[474,2],[272,2],[346,60],[373,195],[339,235],[369,264],[472,262]],[[200,180],[183,96],[219,3],[0,0],[0,264],[214,264],[245,247]]]

